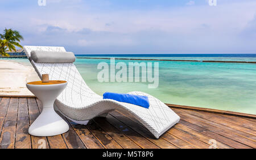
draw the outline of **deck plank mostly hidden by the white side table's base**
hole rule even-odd
[[[43,106],[42,102],[36,98],[36,102],[38,103],[38,109],[39,113],[42,113]],[[51,149],[67,149],[68,146],[65,144],[65,141],[63,139],[62,135],[57,136],[49,136],[47,137],[49,148]]]

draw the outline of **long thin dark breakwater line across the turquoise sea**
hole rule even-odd
[[[112,59],[112,58],[90,58],[90,57],[77,57],[81,59]],[[115,58],[118,60],[155,60],[155,61],[174,61],[174,62],[208,62],[208,63],[255,63],[247,61],[229,61],[229,60],[179,60],[179,59],[136,59],[136,58]]]

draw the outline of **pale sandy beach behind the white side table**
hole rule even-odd
[[[37,80],[40,79],[32,66],[0,60],[0,95],[32,96],[26,83]]]

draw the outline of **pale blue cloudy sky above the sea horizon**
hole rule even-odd
[[[0,0],[0,32],[75,54],[256,53],[255,0],[45,1]]]

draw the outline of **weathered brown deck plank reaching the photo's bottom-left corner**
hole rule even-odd
[[[11,98],[0,136],[0,148],[13,149],[15,145],[18,98]]]

